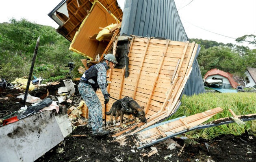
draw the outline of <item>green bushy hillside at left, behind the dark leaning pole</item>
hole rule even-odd
[[[28,76],[38,36],[40,42],[33,75],[49,80],[59,76],[63,79],[69,73],[69,68],[65,67],[68,62],[74,62],[76,69],[82,66],[80,59],[85,57],[69,51],[70,42],[54,28],[12,18],[9,23],[0,23],[1,77],[13,80]]]

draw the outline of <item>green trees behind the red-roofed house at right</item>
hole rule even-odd
[[[197,58],[202,77],[213,68],[240,77],[244,77],[247,67],[256,68],[256,49],[249,49],[249,47],[237,46],[231,43],[224,45],[211,40],[190,40],[202,46]]]

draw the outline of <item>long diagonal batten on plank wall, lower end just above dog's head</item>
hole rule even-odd
[[[163,51],[163,55],[162,55],[162,57],[161,57],[160,63],[159,63],[159,65],[158,65],[158,69],[157,69],[157,71],[156,71],[156,75],[157,75],[157,76],[155,77],[154,83],[153,83],[153,85],[152,85],[152,87],[151,87],[151,90],[150,90],[150,96],[149,96],[149,98],[148,98],[148,102],[147,102],[147,105],[146,105],[145,113],[148,112],[148,108],[149,108],[149,106],[150,106],[150,101],[151,101],[151,99],[152,99],[154,90],[155,90],[155,88],[156,88],[156,83],[157,83],[157,80],[158,80],[158,77],[159,77],[159,72],[160,72],[160,70],[161,70],[161,68],[162,68],[162,66],[163,66],[163,62],[164,62],[164,59],[165,59],[165,54],[166,54],[167,48],[168,48],[168,46],[169,46],[169,42],[170,42],[170,40],[168,39],[167,42],[166,42],[165,49],[164,49],[164,51]]]

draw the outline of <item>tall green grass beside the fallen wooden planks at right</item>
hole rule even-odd
[[[182,104],[178,111],[169,119],[175,119],[183,115],[188,117],[190,115],[202,113],[215,107],[221,107],[223,112],[214,115],[205,123],[215,119],[232,116],[228,109],[232,109],[236,115],[256,113],[256,93],[207,93],[190,97],[184,95],[181,102]],[[187,132],[186,136],[192,138],[203,137],[205,139],[213,139],[214,137],[221,134],[241,135],[252,124],[251,121],[245,123],[246,125],[242,127],[236,123],[232,123],[201,130],[194,130]]]

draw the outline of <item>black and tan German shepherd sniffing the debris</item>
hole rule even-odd
[[[121,102],[123,102],[126,107],[121,106]],[[141,122],[146,123],[147,119],[145,117],[145,111],[143,109],[144,107],[140,107],[139,104],[133,100],[133,98],[130,97],[125,97],[120,100],[117,100],[116,102],[113,103],[110,111],[106,112],[106,115],[111,114],[111,124],[113,124],[113,116],[115,116],[115,121],[117,121],[117,117],[120,116],[120,125],[121,128],[123,128],[123,117],[125,115],[132,115],[132,117],[136,121],[136,117],[139,118]]]

